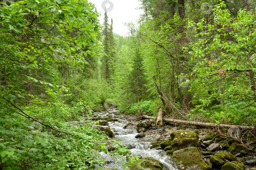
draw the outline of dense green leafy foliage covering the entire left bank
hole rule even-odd
[[[98,122],[77,124],[107,93],[94,6],[27,0],[0,11],[0,169],[102,169],[101,151],[125,167],[126,146]]]

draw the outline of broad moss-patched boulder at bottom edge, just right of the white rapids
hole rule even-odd
[[[186,167],[191,170],[209,170],[196,147],[189,147],[173,152],[172,160],[177,167]]]

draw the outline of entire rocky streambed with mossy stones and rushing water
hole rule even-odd
[[[256,140],[246,141],[244,146],[237,139],[213,133],[212,129],[177,124],[157,127],[152,120],[116,115],[114,109],[94,115],[92,120],[100,120],[94,128],[139,156],[139,161],[131,163],[131,170],[256,170]],[[111,157],[104,153],[102,156],[110,165],[113,163]]]

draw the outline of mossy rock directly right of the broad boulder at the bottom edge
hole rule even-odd
[[[210,162],[213,167],[221,168],[225,163],[229,161],[238,161],[238,159],[232,155],[230,152],[221,151],[216,153],[210,158]]]

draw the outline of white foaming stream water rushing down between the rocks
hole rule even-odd
[[[115,112],[115,110],[110,111],[109,114],[113,115],[113,112]],[[100,113],[100,115],[105,116],[108,114]],[[164,170],[176,170],[176,168],[171,164],[172,162],[170,161],[170,157],[165,153],[164,150],[150,149],[150,143],[155,142],[155,138],[150,136],[145,136],[139,139],[135,138],[135,136],[138,134],[136,129],[123,128],[127,123],[128,122],[109,122],[109,127],[115,133],[115,137],[113,137],[112,140],[116,140],[119,141],[120,144],[127,145],[134,156],[140,155],[142,157],[152,157],[161,161],[165,165]],[[115,164],[120,169],[123,169],[121,168],[121,165],[118,165],[113,161],[111,156],[107,156],[104,153],[101,153],[101,155],[109,162],[109,165]]]

